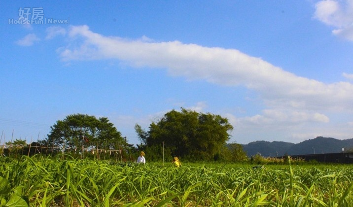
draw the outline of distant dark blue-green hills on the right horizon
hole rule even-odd
[[[316,154],[337,153],[342,152],[342,148],[346,150],[353,148],[353,138],[340,140],[317,137],[297,144],[284,141],[253,141],[243,144],[243,149],[247,152],[248,157],[257,153],[264,157],[282,156],[285,153],[288,155],[314,154],[314,151]]]

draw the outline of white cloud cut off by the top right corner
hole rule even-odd
[[[334,35],[353,41],[353,0],[321,0],[315,7],[315,18],[335,27]]]

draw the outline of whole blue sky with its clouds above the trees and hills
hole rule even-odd
[[[1,144],[73,113],[136,144],[180,107],[227,117],[237,143],[353,138],[353,0],[0,5]],[[15,24],[41,7],[47,24]]]

